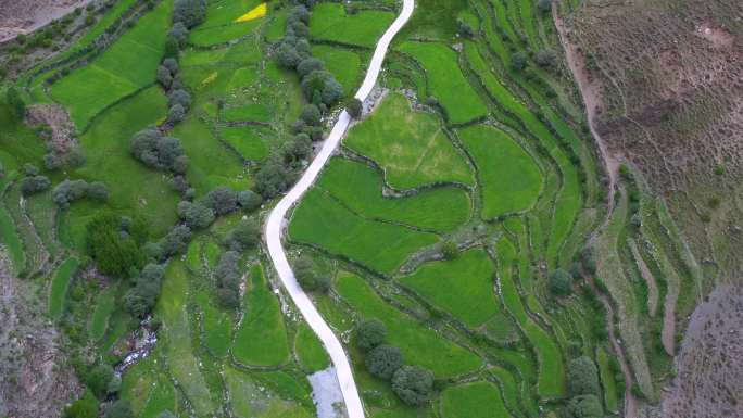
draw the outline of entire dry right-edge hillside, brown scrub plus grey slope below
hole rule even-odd
[[[694,304],[677,313],[689,329],[676,375],[659,410],[644,413],[741,416],[741,302],[730,289],[743,282],[743,3],[561,3],[559,14],[585,63],[577,78],[589,96],[597,91],[585,98],[594,128],[608,156],[665,199],[680,227],[676,238],[704,271],[701,293],[711,292],[691,320]]]

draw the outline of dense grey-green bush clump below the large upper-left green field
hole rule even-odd
[[[148,167],[182,175],[188,168],[180,140],[165,137],[156,128],[140,130],[131,137],[131,155]]]

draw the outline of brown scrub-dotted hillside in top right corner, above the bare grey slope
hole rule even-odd
[[[666,197],[697,258],[722,275],[740,267],[730,255],[743,238],[741,13],[735,0],[592,1],[565,13],[600,85],[609,151]]]

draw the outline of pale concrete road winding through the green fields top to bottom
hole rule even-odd
[[[364,83],[355,94],[361,101],[364,101],[366,97],[369,96],[372,89],[377,84],[377,77],[379,76],[379,71],[381,69],[390,42],[413,14],[414,5],[414,0],[403,0],[402,12],[377,42]],[[338,117],[338,122],[336,122],[336,125],[332,127],[330,135],[323,143],[319,153],[315,156],[315,160],[312,161],[297,185],[289,190],[268,215],[265,238],[268,246],[268,254],[270,255],[270,259],[274,263],[276,273],[281,279],[284,287],[287,289],[287,292],[289,292],[289,295],[302,313],[302,316],[304,316],[304,319],[313,331],[315,331],[323,342],[323,345],[325,345],[325,350],[330,355],[330,359],[336,367],[349,418],[364,418],[364,406],[358,396],[356,382],[353,380],[353,372],[351,371],[351,364],[345,356],[343,345],[341,345],[336,334],[327,322],[325,322],[317,312],[317,308],[315,308],[315,305],[312,304],[310,297],[307,297],[306,293],[304,293],[297,282],[294,273],[291,270],[291,266],[287,261],[287,254],[284,252],[284,246],[281,246],[281,231],[287,212],[315,181],[320,169],[323,169],[323,166],[325,166],[332,152],[338,144],[340,144],[350,123],[351,116],[349,116],[348,112],[343,111]]]

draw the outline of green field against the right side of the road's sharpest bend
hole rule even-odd
[[[364,219],[318,190],[294,210],[289,235],[381,273],[392,273],[413,252],[438,241],[432,233]]]

